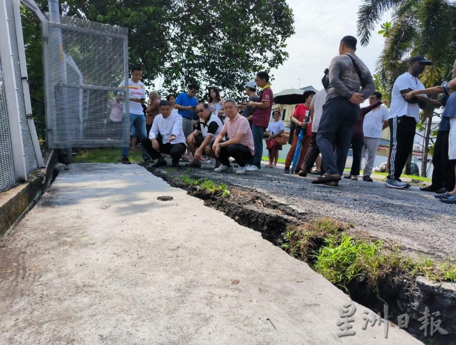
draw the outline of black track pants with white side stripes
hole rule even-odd
[[[399,178],[413,148],[416,122],[413,117],[393,117],[389,122],[389,175],[388,178]]]

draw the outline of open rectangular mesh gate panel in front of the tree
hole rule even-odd
[[[126,89],[120,87],[128,85],[128,29],[46,16],[48,147],[128,144],[128,101],[124,101]]]

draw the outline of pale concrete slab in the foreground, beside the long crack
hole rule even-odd
[[[420,343],[365,309],[136,164],[70,165],[0,248],[2,343]]]

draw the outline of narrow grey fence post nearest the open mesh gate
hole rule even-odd
[[[35,155],[37,156],[38,166],[44,166],[43,155],[41,153],[40,142],[38,141],[35,122],[32,117],[32,102],[30,101],[29,76],[27,74],[26,52],[24,48],[24,36],[22,33],[21,9],[19,0],[13,1],[13,13],[16,23],[16,39],[18,40],[19,64],[21,66],[21,80],[24,92],[24,105],[26,107],[27,123],[29,125],[30,136],[32,138]]]

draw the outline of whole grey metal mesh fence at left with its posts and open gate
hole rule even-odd
[[[55,14],[42,23],[47,146],[128,144],[128,29]],[[19,0],[0,0],[0,191],[43,166],[32,116]]]

